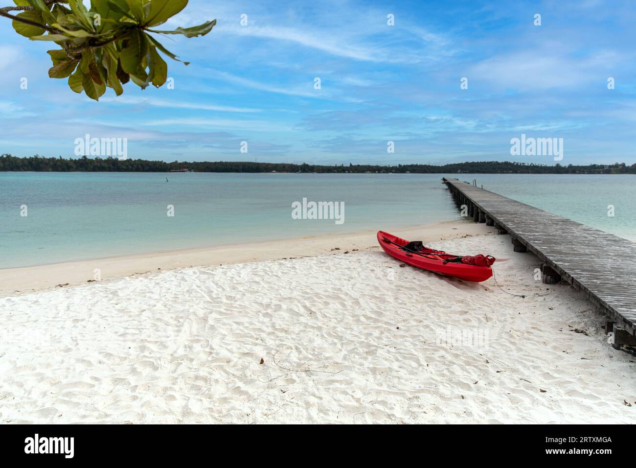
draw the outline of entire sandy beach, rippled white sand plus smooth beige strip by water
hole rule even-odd
[[[399,267],[375,232],[5,270],[0,421],[636,420],[636,358],[534,255],[483,224],[396,234],[509,259],[497,281],[526,297]]]

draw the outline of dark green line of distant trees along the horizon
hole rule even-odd
[[[0,171],[36,172],[170,172],[187,169],[193,172],[211,173],[413,173],[413,174],[636,174],[636,164],[610,165],[590,164],[588,166],[562,166],[556,164],[526,164],[525,162],[480,161],[455,162],[443,166],[431,164],[397,164],[397,166],[374,166],[370,164],[349,164],[345,166],[322,166],[316,164],[287,164],[272,162],[163,162],[145,159],[108,157],[94,159],[83,156],[79,159],[45,158],[35,155],[28,158],[8,154],[0,156]]]

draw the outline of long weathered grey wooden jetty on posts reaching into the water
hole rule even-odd
[[[565,280],[602,309],[616,345],[636,345],[636,243],[468,182],[442,180],[464,215],[510,234],[515,252],[541,259],[544,283]]]

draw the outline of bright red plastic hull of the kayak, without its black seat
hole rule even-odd
[[[486,281],[492,276],[492,269],[490,267],[481,267],[475,265],[466,265],[463,263],[444,263],[443,260],[453,258],[455,255],[448,254],[441,250],[432,250],[425,248],[420,253],[426,255],[417,255],[417,253],[407,252],[401,250],[398,246],[391,244],[384,239],[404,246],[408,244],[408,241],[402,238],[398,238],[393,234],[378,230],[378,243],[384,252],[391,255],[396,260],[404,262],[415,268],[419,268],[432,273],[442,274],[444,276],[452,276],[458,280],[471,281],[473,283],[479,283],[480,281]]]

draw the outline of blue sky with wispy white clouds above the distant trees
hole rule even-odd
[[[563,138],[561,164],[636,162],[633,2],[445,3],[190,0],[165,26],[218,25],[162,39],[192,62],[167,59],[174,89],[130,82],[99,103],[0,18],[0,152],[74,157],[88,133],[128,138],[134,159],[554,164],[510,155],[524,133]]]

